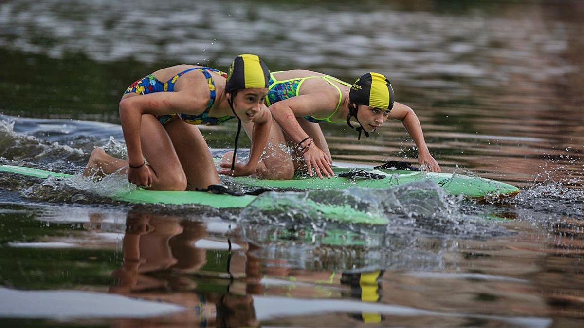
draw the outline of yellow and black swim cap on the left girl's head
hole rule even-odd
[[[238,55],[227,71],[225,92],[249,88],[267,88],[269,79],[270,71],[257,55]]]

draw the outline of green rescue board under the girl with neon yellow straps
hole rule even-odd
[[[331,179],[318,177],[295,177],[292,180],[262,180],[252,177],[236,177],[234,181],[247,187],[277,189],[342,189],[348,187],[390,188],[399,184],[421,180],[432,180],[446,193],[466,197],[507,197],[519,193],[519,189],[508,183],[484,179],[476,176],[453,175],[450,173],[425,172],[414,170],[359,169],[383,179],[371,177],[339,177],[351,168],[333,168],[335,176]]]

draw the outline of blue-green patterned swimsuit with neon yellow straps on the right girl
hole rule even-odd
[[[277,102],[284,100],[284,99],[298,96],[298,90],[300,90],[300,86],[307,79],[322,78],[326,82],[328,82],[330,85],[334,86],[335,89],[339,92],[339,102],[336,104],[335,111],[333,111],[331,113],[331,115],[329,115],[327,117],[323,117],[323,118],[314,117],[314,116],[304,116],[304,118],[307,121],[312,122],[312,123],[319,123],[319,122],[324,122],[324,121],[327,121],[328,123],[345,123],[345,121],[331,121],[331,117],[333,115],[335,115],[336,112],[339,110],[340,101],[343,99],[343,93],[340,92],[339,87],[335,83],[333,83],[332,81],[338,82],[342,85],[351,86],[349,83],[340,81],[338,78],[335,78],[331,75],[305,76],[304,78],[296,78],[296,79],[288,79],[288,80],[278,81],[274,77],[274,73],[280,73],[280,72],[270,72],[270,79],[268,81],[269,87],[267,89],[267,96],[266,96],[267,106],[270,106],[270,104],[277,103]]]

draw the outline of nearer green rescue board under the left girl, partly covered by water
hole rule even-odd
[[[70,178],[72,175],[51,172],[41,169],[26,168],[23,166],[0,165],[0,172],[17,173],[23,176],[39,177],[47,179],[49,176]],[[119,191],[110,195],[113,200],[126,201],[128,203],[150,204],[196,204],[213,208],[244,208],[252,204],[261,210],[294,210],[301,209],[312,218],[329,218],[338,222],[359,224],[387,224],[387,218],[363,212],[348,205],[323,205],[307,199],[302,204],[287,200],[286,198],[271,198],[270,195],[262,196],[230,196],[225,194],[211,194],[201,191],[155,191],[134,189],[131,191]]]

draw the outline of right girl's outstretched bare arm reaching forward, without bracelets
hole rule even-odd
[[[430,171],[441,172],[440,165],[438,162],[430,155],[428,146],[426,145],[426,140],[424,139],[424,134],[422,131],[422,125],[416,113],[404,104],[395,103],[394,108],[390,111],[388,118],[393,118],[394,120],[402,121],[405,130],[412,137],[413,142],[415,142],[418,147],[418,162],[420,165],[426,165]]]

